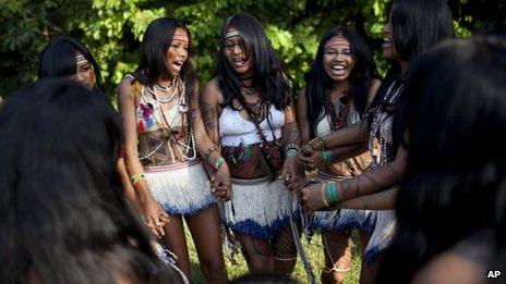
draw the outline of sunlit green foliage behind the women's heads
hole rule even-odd
[[[451,2],[451,1],[450,1]],[[455,9],[466,5],[455,0]],[[159,16],[177,17],[193,37],[193,62],[201,84],[214,76],[218,35],[224,21],[238,12],[255,15],[264,25],[274,49],[299,86],[309,71],[320,38],[344,24],[357,29],[375,51],[380,49],[387,0],[0,0],[0,96],[35,81],[38,55],[57,35],[68,34],[88,46],[105,79],[105,91],[115,101],[115,89],[136,65],[147,24]],[[461,12],[459,35],[468,36],[472,14]]]

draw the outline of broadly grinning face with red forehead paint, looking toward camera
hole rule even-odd
[[[344,36],[330,38],[324,47],[323,66],[333,81],[346,81],[354,66],[350,41]]]

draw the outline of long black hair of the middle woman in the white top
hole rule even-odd
[[[273,103],[278,110],[285,109],[291,99],[291,82],[288,71],[281,60],[274,52],[270,41],[265,35],[264,27],[256,17],[248,13],[239,13],[225,21],[220,35],[220,52],[216,74],[219,88],[224,94],[222,107],[233,108],[233,99],[241,92],[240,78],[229,65],[225,55],[225,35],[227,29],[233,26],[242,35],[244,52],[250,59],[254,75],[253,86],[257,88],[261,96]]]

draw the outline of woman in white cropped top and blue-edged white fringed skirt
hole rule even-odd
[[[297,208],[285,185],[299,178],[300,140],[289,76],[254,16],[231,16],[220,38],[217,76],[201,108],[233,177],[221,219],[251,271],[289,273],[297,259],[289,221]]]

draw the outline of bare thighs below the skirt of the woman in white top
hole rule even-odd
[[[252,238],[251,236],[233,232],[241,242],[241,249],[252,273],[275,272],[273,248],[267,239]]]

